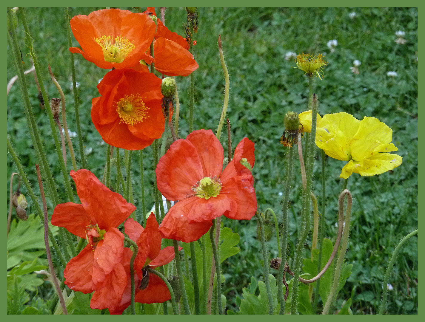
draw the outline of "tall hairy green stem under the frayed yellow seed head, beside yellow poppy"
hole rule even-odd
[[[312,178],[313,178],[313,164],[314,164],[314,145],[316,139],[316,125],[317,125],[317,100],[314,100],[315,95],[313,94],[313,77],[309,76],[309,105],[312,102],[312,132],[307,142],[307,153],[306,153],[306,189],[303,190],[303,206],[301,210],[301,232],[299,234],[297,252],[295,255],[295,267],[294,267],[294,280],[292,285],[292,302],[291,302],[291,314],[297,314],[297,302],[298,302],[298,277],[300,277],[301,264],[303,261],[304,244],[310,231],[310,194],[312,190]],[[314,97],[313,97],[314,96]]]

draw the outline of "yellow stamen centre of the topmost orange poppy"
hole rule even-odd
[[[125,57],[136,48],[133,42],[121,36],[112,38],[111,36],[104,35],[95,38],[94,41],[102,47],[103,57],[107,62],[123,62]]]

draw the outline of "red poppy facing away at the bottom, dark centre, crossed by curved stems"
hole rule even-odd
[[[146,228],[129,218],[125,223],[125,233],[130,239],[136,241],[139,247],[136,259],[134,260],[134,274],[136,285],[135,302],[139,303],[162,303],[171,299],[170,291],[161,278],[155,274],[148,273],[144,268],[156,268],[170,263],[174,258],[173,246],[161,249],[161,234],[158,230],[158,223],[153,213],[146,220]],[[178,248],[183,249],[182,247]],[[130,258],[131,252],[125,254],[122,264],[127,273],[127,287],[122,295],[121,301],[111,305],[111,314],[122,314],[130,305],[131,284],[130,284]]]

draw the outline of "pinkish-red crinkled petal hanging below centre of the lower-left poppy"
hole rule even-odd
[[[110,228],[104,239],[97,243],[94,250],[93,282],[98,284],[105,280],[113,268],[122,259],[124,235],[116,228]]]

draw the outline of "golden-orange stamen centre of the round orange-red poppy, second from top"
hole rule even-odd
[[[120,123],[124,122],[131,126],[149,117],[146,115],[146,110],[149,110],[149,107],[144,105],[139,94],[125,95],[116,103],[116,111],[121,119]]]

